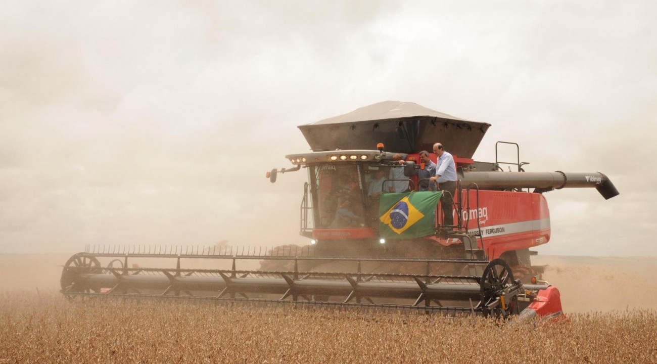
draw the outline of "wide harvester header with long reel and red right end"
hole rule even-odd
[[[116,249],[114,249],[116,250]],[[556,288],[543,284],[525,284],[514,279],[503,260],[491,262],[455,258],[352,258],[318,257],[311,250],[288,250],[284,254],[265,250],[265,254],[225,249],[212,252],[196,248],[182,253],[182,249],[167,248],[162,252],[148,252],[128,248],[125,252],[78,253],[66,262],[62,271],[61,292],[70,300],[78,296],[131,297],[162,299],[193,299],[222,302],[246,302],[293,306],[332,306],[341,309],[392,309],[394,311],[424,311],[448,314],[474,314],[509,317],[530,309],[524,317],[560,315],[561,307]],[[155,250],[155,249],[154,249]],[[300,250],[300,252],[299,252]],[[128,267],[129,261],[154,259],[171,267]],[[230,269],[196,269],[181,267],[191,260],[223,260]],[[102,266],[101,260],[110,263]],[[242,260],[293,260],[292,271],[256,271],[237,269]],[[323,262],[353,262],[351,273],[299,271],[304,260]],[[118,261],[118,262],[117,262]],[[430,267],[440,263],[486,264],[482,277],[450,275],[415,275],[367,273],[365,263],[415,262]],[[174,266],[175,263],[175,267]],[[213,265],[219,265],[216,261]],[[190,264],[194,265],[194,264]],[[545,294],[556,291],[556,299]],[[552,295],[554,296],[554,294]],[[549,309],[532,308],[537,301],[552,300]],[[522,306],[522,307],[521,307]],[[545,306],[545,304],[543,304]]]

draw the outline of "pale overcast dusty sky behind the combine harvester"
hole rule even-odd
[[[5,1],[0,253],[306,243],[297,125],[386,100],[492,124],[547,193],[541,254],[655,256],[654,1]],[[287,162],[287,163],[286,163]]]

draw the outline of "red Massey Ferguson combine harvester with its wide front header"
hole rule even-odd
[[[489,126],[398,101],[301,125],[312,151],[286,156],[293,167],[267,175],[275,182],[278,173],[307,170],[300,233],[310,245],[87,248],[66,263],[62,293],[496,317],[561,315],[558,290],[541,281],[541,267],[530,262],[535,254],[530,248],[550,239],[543,193],[594,187],[611,198],[618,191],[599,172],[525,172],[519,158],[472,160]],[[419,173],[424,170],[420,152],[431,152],[438,141],[457,167],[449,208],[440,202],[450,200],[443,198],[449,192],[434,189],[426,173]],[[436,154],[429,158],[435,162]],[[451,223],[443,216],[450,210]],[[128,268],[129,258],[171,266]],[[223,260],[231,266],[181,267],[181,260]],[[260,269],[237,269],[244,260],[260,260]]]

